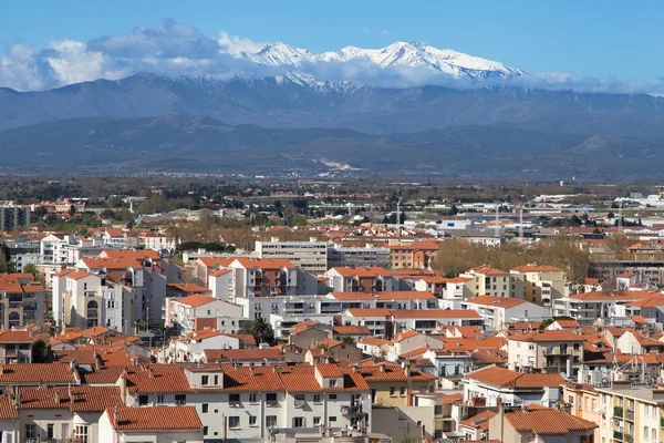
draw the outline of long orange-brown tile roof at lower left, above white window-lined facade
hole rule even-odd
[[[21,389],[21,409],[66,408],[76,412],[101,412],[116,404],[123,404],[118,387],[24,387]]]

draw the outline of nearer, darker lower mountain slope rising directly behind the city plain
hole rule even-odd
[[[552,179],[655,176],[664,141],[454,126],[390,136],[272,130],[203,116],[89,117],[0,132],[0,171]],[[619,158],[619,161],[616,161]]]

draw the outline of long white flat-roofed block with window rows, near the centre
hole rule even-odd
[[[287,259],[302,270],[323,275],[328,270],[328,244],[315,237],[309,241],[256,241],[256,255],[261,259]]]

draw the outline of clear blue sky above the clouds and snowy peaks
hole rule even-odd
[[[661,83],[664,3],[642,1],[29,1],[2,2],[0,53],[87,42],[165,18],[217,39],[284,41],[314,52],[423,40],[528,72]]]

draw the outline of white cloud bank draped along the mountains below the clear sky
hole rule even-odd
[[[371,30],[364,28],[370,35]],[[387,34],[387,30],[381,32]],[[229,35],[204,35],[195,27],[164,20],[156,28],[136,27],[129,33],[102,37],[89,42],[52,41],[37,50],[23,44],[10,47],[0,55],[0,86],[19,91],[44,90],[96,79],[116,80],[138,72],[167,75],[274,76],[287,68],[253,64],[240,52],[258,52],[263,43]],[[318,62],[300,66],[318,80],[350,81],[383,87],[443,85],[477,87],[478,83],[458,80],[426,68],[380,68],[367,60],[349,63]],[[663,93],[664,84],[634,80],[578,78],[564,72],[530,73],[509,81],[487,81],[481,85],[509,84],[518,87],[573,89],[588,92]]]

